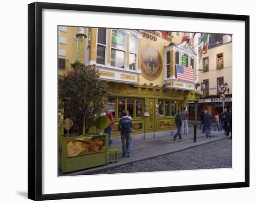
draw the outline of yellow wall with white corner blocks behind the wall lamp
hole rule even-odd
[[[84,33],[87,32],[87,28],[83,27]],[[63,75],[64,72],[70,69],[70,63],[73,63],[76,60],[77,57],[77,45],[76,45],[76,40],[74,40],[73,36],[78,32],[78,27],[67,27],[67,32],[60,32],[60,37],[61,38],[66,38],[67,39],[67,44],[60,44],[60,49],[66,51],[66,57],[60,56],[60,58],[65,58],[66,59],[66,69],[59,69],[59,74]],[[85,44],[86,40],[84,39],[83,42],[81,43],[81,48],[80,48],[80,61],[85,63]]]

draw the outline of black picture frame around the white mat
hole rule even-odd
[[[127,190],[103,190],[42,195],[42,9],[127,13],[155,16],[227,19],[245,22],[245,174],[244,182],[182,185]],[[249,187],[249,16],[196,13],[141,8],[88,6],[35,2],[28,5],[28,198],[54,200],[81,197],[134,195],[189,190],[212,190]]]

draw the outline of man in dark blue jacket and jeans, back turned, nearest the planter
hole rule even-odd
[[[122,115],[118,130],[121,132],[123,157],[130,157],[132,150],[132,120],[127,116],[126,110],[122,111]]]

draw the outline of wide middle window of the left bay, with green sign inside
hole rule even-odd
[[[119,30],[111,32],[111,66],[124,68],[126,34]]]

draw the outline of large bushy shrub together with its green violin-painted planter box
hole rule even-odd
[[[59,137],[62,172],[108,164],[108,134],[88,133],[104,110],[106,84],[95,66],[85,67],[80,61],[74,61],[71,67],[72,70],[59,79],[64,118],[69,117],[74,122],[73,136]]]

